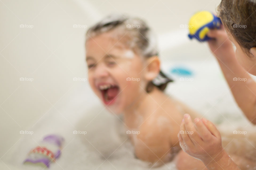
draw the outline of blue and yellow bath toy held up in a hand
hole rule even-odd
[[[195,13],[189,20],[189,38],[199,41],[207,41],[211,38],[206,34],[210,29],[221,26],[221,19],[209,11],[199,11]]]

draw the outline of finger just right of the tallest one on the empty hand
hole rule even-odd
[[[195,118],[195,128],[197,129],[199,135],[203,139],[203,141],[210,141],[212,134],[211,132],[206,128],[205,124],[202,122],[201,119]]]

